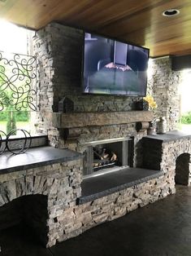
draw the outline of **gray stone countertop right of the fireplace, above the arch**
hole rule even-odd
[[[166,134],[147,135],[146,137],[144,137],[144,139],[157,139],[162,140],[163,142],[168,142],[177,139],[191,139],[191,134],[184,133],[180,130],[171,130]]]

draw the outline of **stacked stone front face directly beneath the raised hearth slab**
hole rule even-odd
[[[115,192],[109,196],[76,205],[64,210],[55,224],[60,232],[57,241],[64,241],[85,232],[91,227],[128,214],[132,210],[158,201],[175,192],[171,175],[164,174],[157,179]]]

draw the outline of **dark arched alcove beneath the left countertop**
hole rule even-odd
[[[23,227],[24,232],[44,245],[48,241],[47,196],[20,196],[0,207],[0,230],[8,227]]]

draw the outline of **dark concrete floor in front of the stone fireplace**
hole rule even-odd
[[[0,234],[0,256],[189,256],[191,188],[94,227],[69,241],[45,249],[12,227]]]

